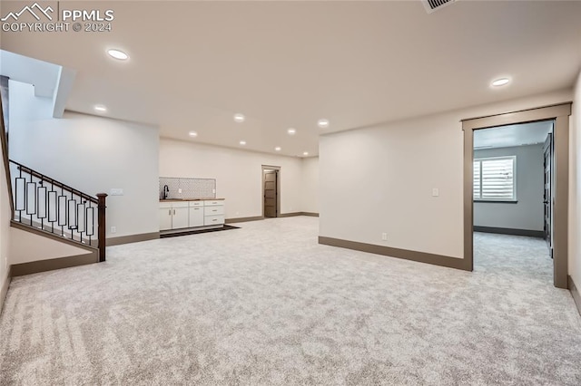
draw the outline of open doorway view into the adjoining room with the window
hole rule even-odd
[[[553,120],[474,130],[473,243],[478,270],[497,277],[552,281],[553,130]]]

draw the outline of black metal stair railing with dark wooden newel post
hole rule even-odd
[[[10,159],[13,220],[99,248],[105,260],[105,198],[97,198]]]

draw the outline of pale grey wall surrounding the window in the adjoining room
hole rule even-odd
[[[474,225],[542,231],[544,229],[543,145],[475,150],[474,158],[517,156],[517,203],[475,202]]]

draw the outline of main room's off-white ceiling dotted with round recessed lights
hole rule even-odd
[[[2,3],[2,14],[23,5]],[[3,32],[0,44],[76,70],[67,109],[104,104],[164,137],[196,130],[195,141],[291,156],[317,154],[321,132],[570,88],[581,67],[581,2],[463,0],[433,14],[419,0],[60,7],[113,9],[113,32]],[[130,60],[110,59],[112,47]],[[513,82],[490,88],[502,75]]]

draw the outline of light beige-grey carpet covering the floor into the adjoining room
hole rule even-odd
[[[15,278],[0,383],[581,384],[581,318],[542,240],[478,234],[468,273],[317,233],[256,221]]]

